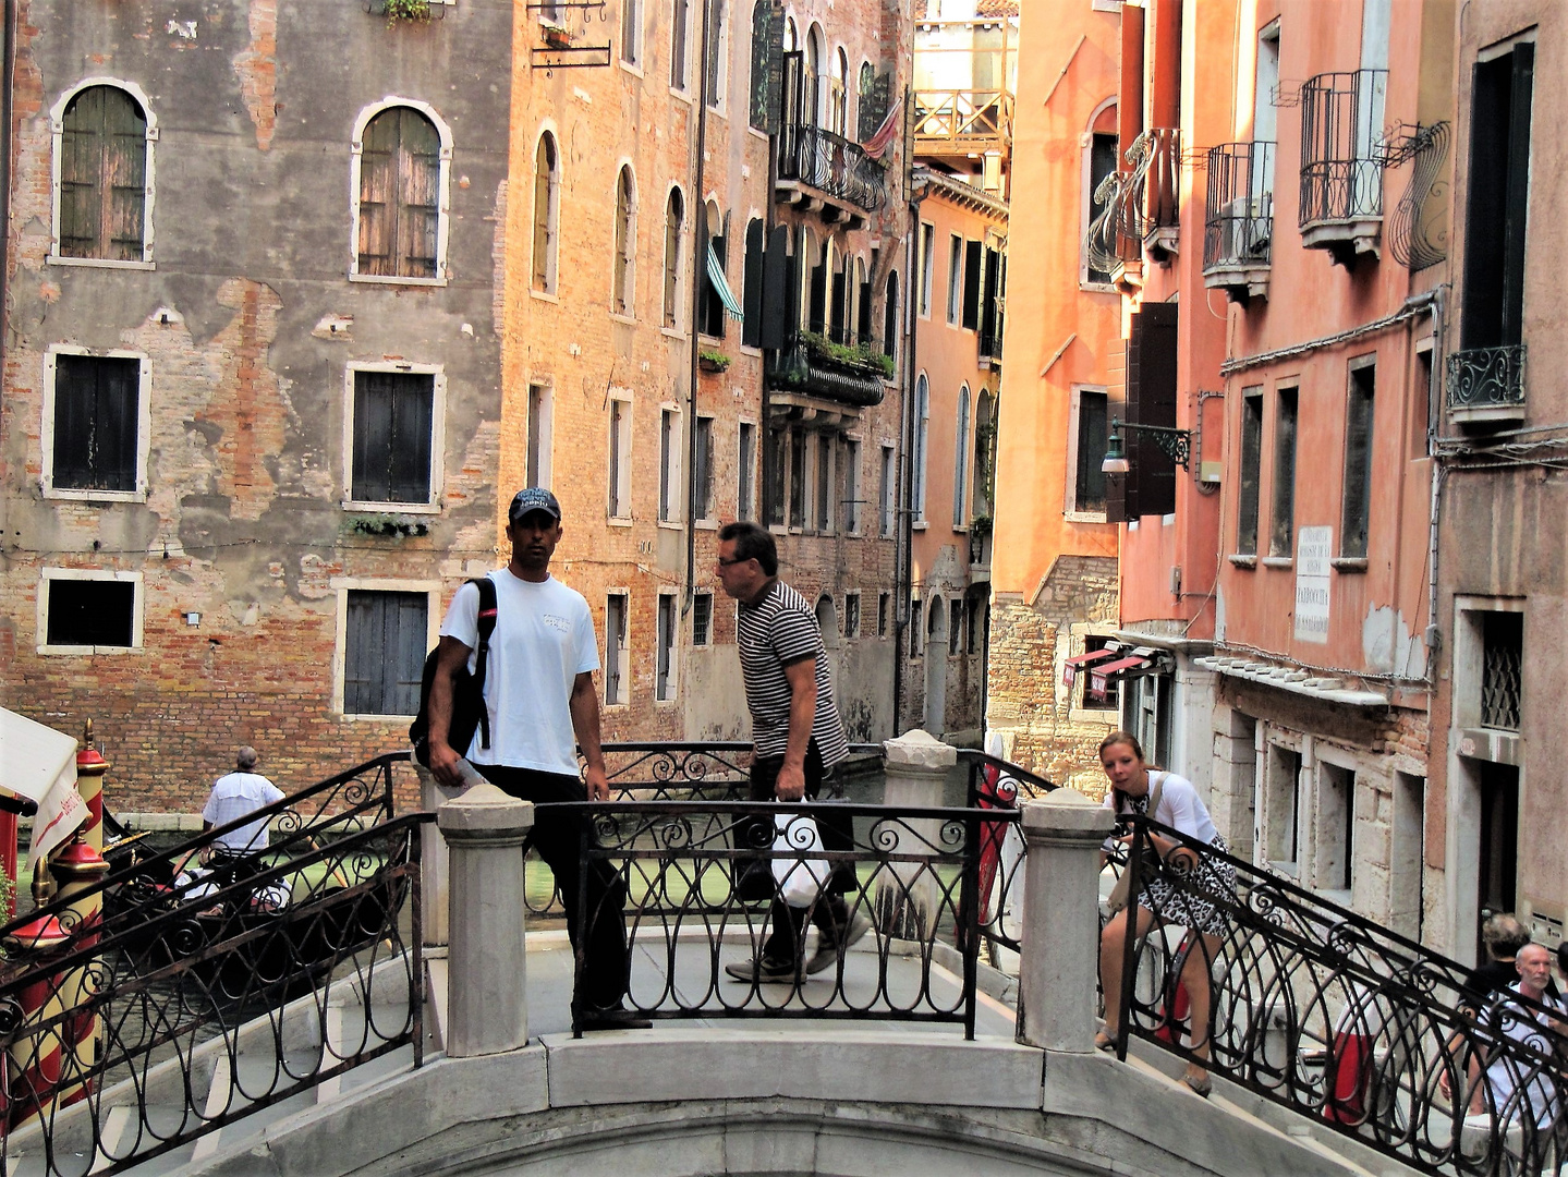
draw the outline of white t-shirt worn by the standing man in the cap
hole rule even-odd
[[[577,776],[577,737],[571,697],[577,675],[599,669],[599,641],[588,602],[555,577],[522,580],[510,569],[489,574],[495,581],[495,632],[485,671],[485,705],[491,746],[458,749],[470,763],[536,768]],[[480,591],[463,585],[441,622],[441,636],[456,638],[470,650],[480,644]],[[474,671],[475,655],[469,655]]]

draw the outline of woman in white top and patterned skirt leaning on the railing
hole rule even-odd
[[[1198,796],[1192,780],[1174,773],[1163,773],[1151,768],[1143,760],[1143,748],[1137,737],[1129,732],[1113,732],[1099,746],[1099,762],[1110,779],[1110,795],[1105,807],[1118,817],[1148,815],[1162,826],[1170,826],[1187,837],[1204,842],[1214,849],[1226,851],[1225,838],[1214,828],[1207,806]],[[1159,795],[1156,807],[1149,809],[1151,795]],[[1192,851],[1182,849],[1173,838],[1149,832],[1149,840],[1159,853],[1162,862],[1176,864],[1179,859],[1193,857]],[[1121,838],[1132,843],[1132,835]],[[1189,864],[1192,865],[1192,864]],[[1236,870],[1228,864],[1210,864],[1201,876],[1189,873],[1189,878],[1204,884],[1204,890],[1231,890],[1236,884]],[[1220,951],[1220,936],[1225,933],[1225,914],[1214,903],[1193,893],[1190,884],[1178,889],[1168,878],[1154,875],[1140,879],[1140,892],[1135,903],[1112,915],[1099,936],[1099,980],[1105,995],[1105,1030],[1096,1036],[1094,1045],[1101,1050],[1113,1050],[1116,1031],[1121,1027],[1124,1011],[1121,1009],[1121,972],[1123,954],[1127,943],[1127,920],[1137,920],[1137,936],[1145,936],[1156,925],[1182,925],[1189,929],[1185,948],[1181,953],[1181,980],[1187,986],[1187,1000],[1192,1003],[1192,1053],[1193,1061],[1187,1066],[1182,1081],[1196,1094],[1209,1096],[1209,1069],[1204,1063],[1209,1058],[1210,1039],[1210,990],[1209,967]]]

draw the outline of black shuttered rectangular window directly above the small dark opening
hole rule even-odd
[[[141,360],[55,357],[53,489],[136,491]]]

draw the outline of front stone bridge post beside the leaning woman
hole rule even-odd
[[[1046,1050],[1094,1048],[1099,970],[1099,848],[1109,809],[1058,788],[1025,801],[1024,936],[1018,1041]]]

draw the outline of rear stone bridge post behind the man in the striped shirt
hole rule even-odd
[[[883,804],[889,809],[938,809],[949,770],[958,763],[958,749],[944,744],[928,732],[916,729],[883,743]],[[941,823],[914,818],[908,823],[911,837],[898,849],[936,854]],[[891,878],[877,885],[877,923],[887,936],[924,940],[936,918],[936,879],[917,862],[891,864]]]

